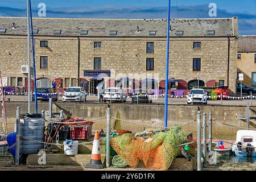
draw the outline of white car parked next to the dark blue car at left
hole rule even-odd
[[[86,101],[86,92],[81,86],[71,86],[63,93],[63,101]]]

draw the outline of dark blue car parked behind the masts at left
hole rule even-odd
[[[42,101],[49,101],[49,98],[52,98],[52,101],[57,101],[57,92],[53,88],[37,88],[36,98]],[[35,101],[35,94],[32,94],[32,101]]]

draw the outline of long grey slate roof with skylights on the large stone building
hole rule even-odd
[[[171,19],[171,36],[176,31],[183,31],[183,37],[195,36],[234,36],[238,30],[233,30],[233,18],[221,19]],[[15,30],[12,30],[15,23]],[[167,19],[61,19],[61,18],[33,18],[34,30],[38,35],[53,35],[54,30],[61,30],[60,35],[81,36],[81,31],[88,31],[82,36],[113,36],[110,31],[117,31],[117,37],[148,37],[149,31],[156,31],[156,37],[167,36]],[[235,26],[237,27],[237,26]],[[26,35],[27,19],[0,17],[0,30],[5,29],[5,35]],[[137,32],[139,30],[139,32]],[[214,35],[207,35],[207,31],[214,30]]]

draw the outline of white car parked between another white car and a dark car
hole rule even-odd
[[[120,102],[126,102],[127,97],[126,93],[118,87],[110,87],[105,89],[105,92],[103,93],[103,101],[120,101]]]

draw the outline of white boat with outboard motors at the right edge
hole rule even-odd
[[[256,157],[256,131],[238,130],[236,144],[232,145],[232,151],[236,156]]]

